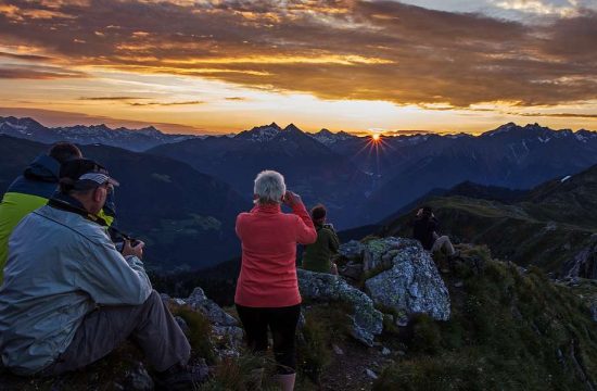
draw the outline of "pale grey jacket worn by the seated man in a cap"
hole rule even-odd
[[[43,206],[9,240],[0,287],[0,353],[15,374],[50,366],[98,305],[139,305],[152,291],[143,264],[116,250],[105,228]]]

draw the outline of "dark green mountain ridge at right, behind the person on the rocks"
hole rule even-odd
[[[500,258],[559,277],[597,278],[597,165],[528,191],[470,182],[436,190],[384,219],[379,234],[411,235],[408,222],[422,205],[457,241],[487,244]]]

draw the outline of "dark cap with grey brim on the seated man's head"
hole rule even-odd
[[[107,169],[90,159],[73,159],[60,166],[60,184],[67,190],[90,190],[110,184],[119,186]]]

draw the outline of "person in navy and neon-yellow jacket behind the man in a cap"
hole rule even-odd
[[[23,217],[46,205],[58,190],[60,165],[72,159],[80,159],[80,150],[69,142],[56,142],[48,154],[37,156],[23,175],[8,188],[0,203],[0,285],[8,258],[9,237]],[[114,218],[112,197],[101,213],[109,223]]]

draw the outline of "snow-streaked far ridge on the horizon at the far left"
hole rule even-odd
[[[78,144],[103,144],[131,151],[144,151],[162,143],[179,142],[196,138],[192,135],[168,135],[153,126],[141,129],[110,128],[101,125],[76,125],[49,128],[37,121],[24,117],[0,116],[0,134],[31,141],[52,143],[71,141]]]

